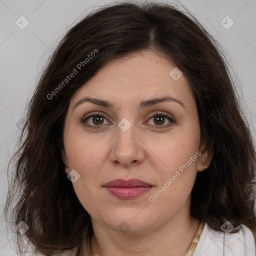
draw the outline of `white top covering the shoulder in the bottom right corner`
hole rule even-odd
[[[241,225],[236,233],[215,231],[205,222],[193,256],[255,256],[255,241],[251,230]]]

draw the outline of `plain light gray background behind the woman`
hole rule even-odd
[[[118,1],[0,0],[0,256],[16,255],[10,245],[14,232],[6,232],[2,214],[7,193],[6,167],[20,132],[16,124],[24,114],[25,104],[50,51],[66,30],[83,13],[111,2]],[[256,0],[167,2],[181,2],[224,48],[240,86],[241,108],[248,116],[255,138]],[[21,15],[29,21],[24,29],[15,24]],[[229,29],[220,23],[226,15],[234,21]]]

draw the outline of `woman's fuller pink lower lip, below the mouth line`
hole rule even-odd
[[[131,199],[146,193],[152,186],[115,187],[105,186],[108,192],[121,199]]]

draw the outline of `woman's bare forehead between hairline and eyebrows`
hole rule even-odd
[[[123,103],[167,95],[183,102],[191,100],[192,93],[185,75],[173,79],[172,70],[178,75],[181,73],[159,52],[132,52],[109,61],[76,91],[70,103],[74,105],[86,95]]]

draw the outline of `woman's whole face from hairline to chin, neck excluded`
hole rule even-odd
[[[93,223],[141,232],[188,214],[196,173],[209,161],[195,100],[174,67],[160,53],[132,53],[110,61],[70,100],[61,153]]]

